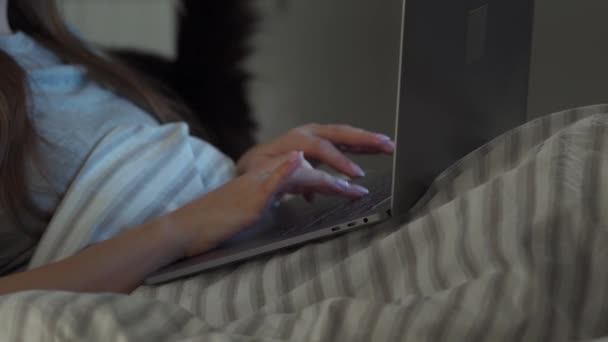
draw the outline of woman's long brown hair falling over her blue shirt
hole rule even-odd
[[[188,109],[168,92],[144,80],[125,65],[89,50],[68,30],[55,1],[9,0],[8,14],[13,30],[28,34],[54,51],[64,62],[83,65],[92,79],[129,99],[161,122],[178,121],[184,115],[191,119]],[[21,213],[34,211],[40,214],[28,194],[25,176],[28,158],[36,155],[40,139],[29,118],[25,71],[2,50],[0,74],[0,210],[22,226]]]

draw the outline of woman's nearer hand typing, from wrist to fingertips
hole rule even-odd
[[[258,221],[285,193],[324,193],[360,197],[365,190],[307,165],[302,152],[266,160],[224,186],[156,223],[176,227],[184,256],[193,256],[230,239]]]

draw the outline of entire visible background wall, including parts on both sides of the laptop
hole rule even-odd
[[[172,54],[173,1],[62,1],[69,19],[93,40]],[[263,21],[247,65],[256,76],[250,99],[261,138],[307,121],[390,132],[400,0],[289,3],[256,0]],[[608,102],[608,2],[536,0],[536,7],[530,116]]]

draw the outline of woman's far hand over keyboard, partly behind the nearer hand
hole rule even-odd
[[[303,151],[307,159],[327,164],[350,177],[362,177],[363,170],[344,153],[390,154],[394,150],[395,144],[382,134],[346,125],[309,124],[254,147],[238,161],[237,170],[244,174],[288,151]]]

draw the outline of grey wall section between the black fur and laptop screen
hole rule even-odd
[[[310,121],[392,133],[400,0],[258,3],[266,20],[249,66],[263,138]]]

